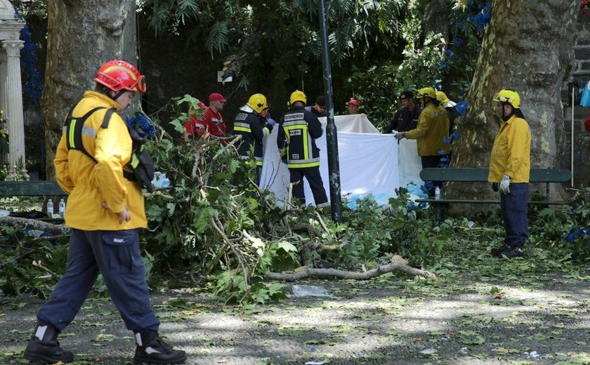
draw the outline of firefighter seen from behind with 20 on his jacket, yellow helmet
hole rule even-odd
[[[296,90],[289,98],[289,111],[279,122],[277,147],[281,159],[287,163],[293,200],[298,204],[306,203],[303,190],[303,178],[309,183],[315,206],[328,204],[328,197],[320,175],[320,149],[315,140],[322,136],[322,124],[317,116],[305,109],[306,94]]]

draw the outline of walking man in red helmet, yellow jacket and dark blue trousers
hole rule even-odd
[[[129,107],[136,93],[145,92],[144,80],[128,62],[106,62],[94,78],[96,91],[86,91],[65,122],[53,163],[60,187],[69,194],[65,224],[72,234],[67,271],[37,313],[26,359],[73,361],[72,352],[63,350],[57,337],[74,320],[99,273],[135,335],[134,364],[177,364],[186,359],[184,351],[173,350],[158,336],[159,321],[150,307],[139,249],[138,229],[147,227],[143,193],[138,182],[124,178],[132,140],[119,114],[107,114]]]

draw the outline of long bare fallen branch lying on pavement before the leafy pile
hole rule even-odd
[[[305,279],[307,277],[319,278],[339,278],[339,279],[353,279],[353,280],[367,280],[374,277],[379,277],[388,272],[400,271],[414,277],[426,277],[428,279],[436,279],[436,275],[426,270],[420,270],[415,267],[408,266],[399,256],[392,258],[392,263],[381,265],[372,270],[365,272],[350,272],[338,269],[315,269],[308,267],[298,272],[266,272],[268,279],[296,281]]]

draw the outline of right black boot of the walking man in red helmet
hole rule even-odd
[[[174,350],[156,331],[138,332],[135,337],[137,347],[133,364],[182,364],[186,360],[186,352]]]

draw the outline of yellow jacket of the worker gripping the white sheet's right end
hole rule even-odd
[[[442,138],[449,137],[449,115],[432,102],[420,113],[418,126],[404,135],[410,140],[417,140],[419,156],[438,156],[441,150],[445,154],[451,152],[451,145],[442,142]]]

